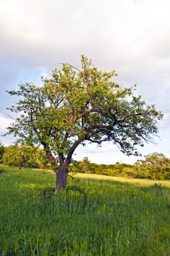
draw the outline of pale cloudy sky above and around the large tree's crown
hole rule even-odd
[[[19,82],[40,85],[60,63],[80,65],[80,56],[101,70],[116,69],[114,81],[137,84],[137,94],[164,114],[156,144],[138,148],[142,156],[170,158],[170,1],[169,0],[0,0],[0,135],[11,118],[7,107]],[[0,137],[8,146],[15,139]],[[134,163],[113,143],[80,146],[74,159]]]

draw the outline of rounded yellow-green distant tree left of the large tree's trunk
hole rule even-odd
[[[24,143],[22,146],[12,145],[6,147],[2,162],[9,166],[18,166],[19,169],[22,168],[22,166],[42,168],[42,166],[45,166],[47,163],[46,156],[44,156],[44,151],[42,149],[37,149],[34,146],[27,146]]]

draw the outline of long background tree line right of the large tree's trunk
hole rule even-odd
[[[161,153],[152,153],[137,160],[134,164],[116,162],[116,164],[94,164],[88,158],[76,161],[70,167],[73,172],[103,174],[114,177],[136,179],[170,179],[170,159]]]

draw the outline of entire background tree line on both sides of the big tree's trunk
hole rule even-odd
[[[4,147],[0,142],[0,162],[9,166],[52,169],[42,148],[36,146],[11,145]],[[95,164],[85,157],[81,161],[73,161],[70,172],[103,174],[114,177],[138,179],[170,179],[170,159],[161,153],[152,153],[137,160],[134,164],[116,162],[116,164]]]

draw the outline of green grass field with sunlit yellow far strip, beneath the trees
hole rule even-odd
[[[77,177],[0,166],[0,255],[170,255],[168,181]]]

